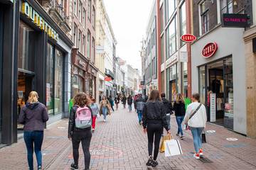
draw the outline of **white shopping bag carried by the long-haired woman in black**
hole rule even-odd
[[[166,140],[164,142],[165,157],[182,154],[181,145],[178,140]]]

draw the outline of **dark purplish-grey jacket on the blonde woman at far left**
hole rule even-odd
[[[43,131],[48,119],[46,106],[43,103],[26,103],[21,109],[18,123],[24,125],[24,131]]]

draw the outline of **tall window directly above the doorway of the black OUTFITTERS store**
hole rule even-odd
[[[34,30],[20,21],[18,43],[18,68],[33,72]]]

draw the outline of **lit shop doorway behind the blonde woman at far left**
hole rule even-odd
[[[17,101],[17,113],[19,116],[21,112],[21,108],[25,106],[26,101],[28,101],[28,95],[31,91],[34,90],[33,88],[33,73],[18,71],[18,101]],[[23,125],[17,124],[18,132],[22,132]]]

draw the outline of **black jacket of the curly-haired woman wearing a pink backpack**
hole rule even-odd
[[[90,108],[90,106],[87,106],[87,107]],[[70,110],[70,118],[68,121],[68,137],[72,137],[72,134],[74,131],[90,129],[90,128],[85,128],[85,129],[75,128],[75,113],[77,109],[78,109],[78,106],[73,106],[73,108]],[[91,108],[90,108],[90,111],[92,113]]]

